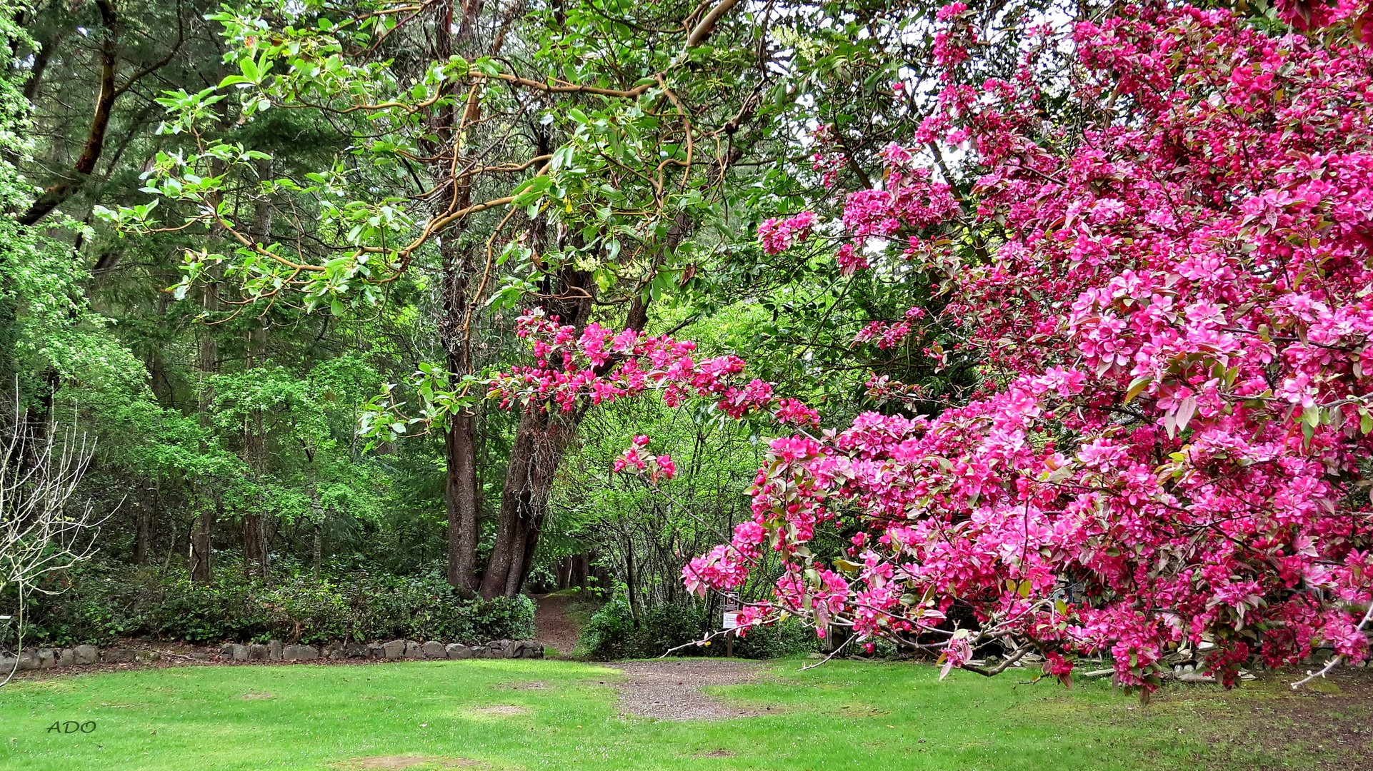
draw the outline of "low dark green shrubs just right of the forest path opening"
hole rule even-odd
[[[711,623],[714,621],[714,623]],[[662,656],[666,650],[703,638],[718,628],[718,619],[706,617],[706,606],[655,605],[638,615],[638,624],[629,610],[629,604],[616,597],[601,606],[582,628],[578,639],[586,656],[608,661],[614,659],[647,659]],[[743,659],[776,659],[809,653],[818,648],[816,632],[795,619],[773,627],[752,630],[747,637],[735,641],[735,656]],[[678,656],[722,656],[725,641],[715,638],[708,646],[688,646]]]

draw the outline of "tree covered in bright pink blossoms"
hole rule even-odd
[[[746,598],[746,630],[802,616],[984,674],[1038,652],[1064,680],[1076,657],[1104,653],[1145,694],[1179,648],[1207,649],[1226,685],[1254,657],[1296,663],[1314,646],[1363,660],[1368,4],[1281,11],[1304,32],[1152,4],[1046,26],[1017,77],[950,77],[919,134],[886,154],[881,184],[849,195],[836,259],[945,277],[941,321],[984,362],[972,401],[821,431],[733,357],[697,362],[689,343],[610,331],[564,339],[538,314],[541,350],[575,350],[562,361],[577,364],[496,391],[570,405],[662,390],[796,427],[772,442],[752,519],[684,568],[695,591],[735,593],[778,554],[770,597]],[[935,55],[958,67],[976,26],[961,3],[939,21]],[[1048,102],[1076,119],[1046,121]],[[818,226],[805,213],[759,235],[781,252]],[[861,342],[897,344],[921,322],[913,309]],[[910,392],[877,380],[898,402]],[[618,465],[674,471],[637,443]],[[822,528],[844,553],[811,549]],[[969,665],[979,650],[1001,664]]]

